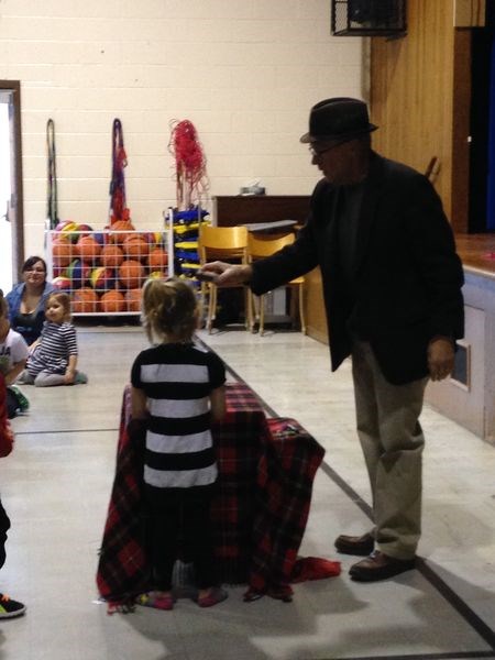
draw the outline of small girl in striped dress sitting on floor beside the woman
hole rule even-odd
[[[46,299],[45,322],[40,339],[31,345],[28,365],[20,383],[36,387],[77,385],[88,378],[77,366],[76,329],[70,323],[70,298],[53,293]]]

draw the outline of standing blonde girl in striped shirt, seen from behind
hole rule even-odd
[[[143,324],[156,343],[132,366],[132,422],[142,420],[146,427],[144,498],[153,590],[136,603],[173,608],[172,572],[182,534],[199,587],[195,600],[210,607],[227,598],[218,586],[210,520],[218,474],[210,426],[226,413],[226,370],[215,353],[193,342],[198,305],[185,282],[145,284]]]

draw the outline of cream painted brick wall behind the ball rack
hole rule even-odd
[[[116,117],[136,227],[175,205],[172,119],[195,124],[210,196],[257,179],[307,195],[309,108],[365,95],[362,48],[330,35],[330,0],[1,0],[0,79],[21,80],[26,254],[43,240],[50,118],[62,219],[107,223]]]

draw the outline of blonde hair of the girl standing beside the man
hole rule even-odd
[[[143,288],[143,327],[147,338],[190,341],[198,327],[198,302],[193,288],[177,277],[148,279]]]

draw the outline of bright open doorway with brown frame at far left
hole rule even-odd
[[[0,80],[0,288],[18,282],[24,260],[21,84]]]

